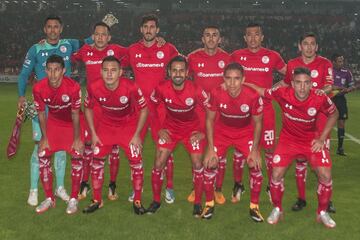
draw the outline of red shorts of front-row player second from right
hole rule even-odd
[[[252,131],[228,129],[221,127],[221,125],[215,126],[214,147],[218,157],[225,157],[228,148],[231,146],[247,157],[253,145],[253,134]]]

